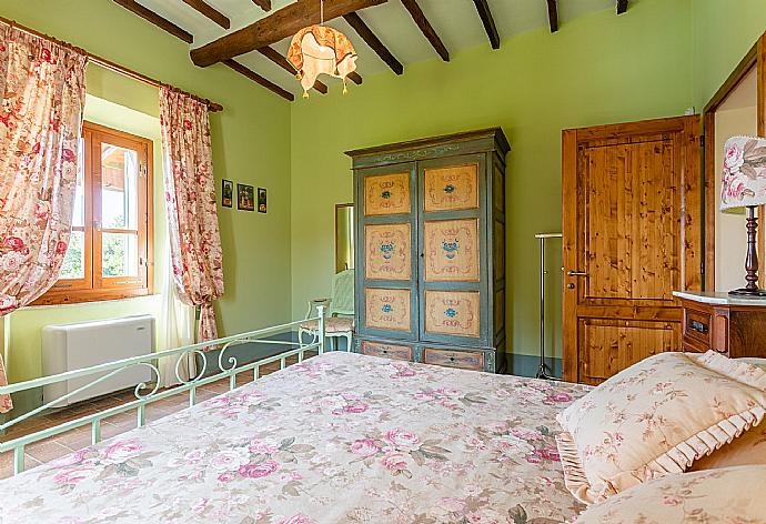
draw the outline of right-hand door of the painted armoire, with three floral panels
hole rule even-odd
[[[420,336],[488,345],[486,339],[486,160],[419,162]]]

